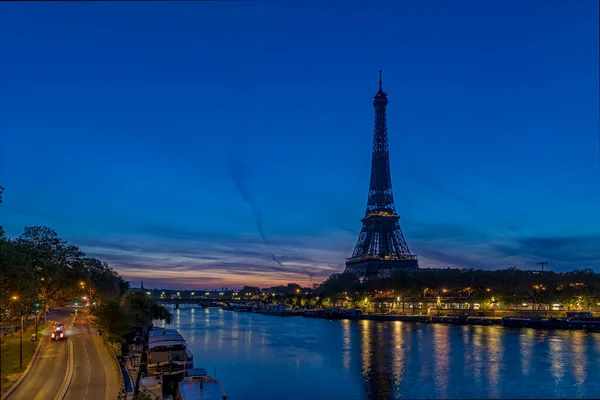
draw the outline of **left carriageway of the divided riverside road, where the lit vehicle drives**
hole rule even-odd
[[[67,327],[72,319],[73,317],[67,309],[57,309],[48,313],[48,321],[60,321]],[[67,373],[67,341],[51,341],[49,337],[45,337],[40,346],[42,347],[37,361],[19,387],[8,396],[8,399],[53,399],[60,390]]]

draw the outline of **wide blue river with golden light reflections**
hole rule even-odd
[[[231,400],[600,398],[598,333],[173,312]]]

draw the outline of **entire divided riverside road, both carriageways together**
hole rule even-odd
[[[83,311],[83,310],[82,310]],[[98,332],[92,330],[87,314],[80,312],[73,327],[72,309],[48,314],[67,328],[67,340],[40,344],[40,356],[10,400],[52,400],[59,393],[69,364],[68,341],[73,344],[73,377],[65,400],[112,400],[118,393],[118,375]],[[106,377],[109,379],[107,380]]]

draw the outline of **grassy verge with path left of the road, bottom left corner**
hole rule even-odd
[[[0,374],[2,375],[1,388],[2,393],[8,390],[21,376],[29,365],[37,346],[43,339],[46,325],[38,325],[38,341],[32,342],[31,335],[35,332],[35,326],[25,328],[23,332],[23,368],[19,367],[19,347],[21,341],[21,332],[15,331],[2,337],[0,344]]]

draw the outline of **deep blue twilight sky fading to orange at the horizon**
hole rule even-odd
[[[379,69],[422,267],[600,271],[596,1],[1,3],[0,35],[7,233],[134,285],[342,271]]]

